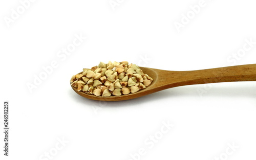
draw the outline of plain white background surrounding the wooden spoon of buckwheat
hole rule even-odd
[[[102,103],[69,84],[100,61],[173,71],[256,63],[256,44],[242,52],[246,40],[256,41],[255,2],[205,0],[194,15],[189,6],[200,1],[114,2],[34,1],[24,11],[20,1],[0,2],[1,102],[10,103],[9,157],[0,111],[1,159],[255,159],[255,82],[182,86]],[[19,16],[7,22],[17,8]],[[175,22],[188,13],[178,32]],[[87,39],[57,56],[75,35]],[[30,92],[27,84],[52,61],[57,67]],[[162,123],[174,126],[161,133]],[[151,135],[158,142],[145,144]]]

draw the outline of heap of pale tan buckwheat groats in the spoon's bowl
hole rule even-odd
[[[91,69],[84,68],[81,74],[72,76],[70,83],[80,92],[109,97],[136,93],[152,81],[136,64],[109,61],[100,62]]]

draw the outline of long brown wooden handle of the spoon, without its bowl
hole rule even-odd
[[[256,64],[227,66],[197,71],[169,71],[167,87],[218,82],[256,81]]]

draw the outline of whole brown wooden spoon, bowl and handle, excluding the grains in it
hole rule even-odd
[[[154,81],[150,86],[139,90],[137,93],[122,96],[101,97],[78,92],[75,87],[72,85],[71,87],[78,95],[92,100],[122,101],[152,94],[163,89],[183,85],[235,81],[256,81],[256,64],[227,66],[197,71],[165,71],[147,67],[140,68],[145,74],[152,77]]]

